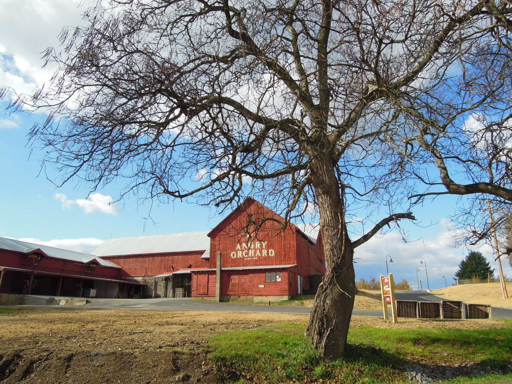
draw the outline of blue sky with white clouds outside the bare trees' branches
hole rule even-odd
[[[48,81],[52,70],[41,69],[41,52],[58,44],[63,26],[80,23],[84,7],[76,0],[0,0],[0,84],[19,93],[31,93]],[[114,182],[90,193],[87,185],[71,181],[57,188],[40,168],[44,155],[27,144],[27,133],[43,114],[5,114],[0,103],[0,236],[89,252],[111,237],[208,230],[222,217],[215,208],[174,201],[169,204],[137,201],[133,196],[108,204],[122,185]],[[55,170],[48,170],[55,176]],[[386,255],[395,279],[419,279],[426,287],[425,259],[431,288],[451,284],[458,264],[468,253],[454,247],[455,197],[443,197],[414,209],[419,226],[401,223],[409,242],[398,231],[377,236],[356,249],[356,279],[386,273]],[[151,216],[151,219],[148,219]],[[367,227],[365,227],[368,229]],[[477,247],[471,247],[477,250]],[[492,249],[480,251],[497,268]],[[505,275],[512,276],[506,260]]]

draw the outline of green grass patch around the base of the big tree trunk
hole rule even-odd
[[[276,324],[209,338],[209,358],[222,382],[242,383],[400,383],[402,365],[411,362],[479,362],[502,368],[512,360],[512,322],[501,329],[351,330],[345,356],[320,359],[304,336],[305,325]],[[507,376],[485,376],[483,381]],[[454,382],[483,382],[459,378]]]

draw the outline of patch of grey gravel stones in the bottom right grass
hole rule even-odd
[[[442,365],[410,365],[403,366],[409,377],[409,381],[419,383],[436,382],[452,379],[457,376],[479,377],[489,373],[504,375],[512,372],[512,364],[507,365],[503,370],[491,367],[484,367],[479,364],[455,364],[454,366]]]

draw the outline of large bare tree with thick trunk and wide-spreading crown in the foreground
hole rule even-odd
[[[494,38],[488,5],[499,5],[104,4],[87,12],[85,27],[63,32],[61,51],[48,50],[59,65],[49,88],[20,100],[52,111],[31,133],[50,148],[45,160],[66,172],[62,182],[79,177],[97,187],[124,177],[123,193],[150,198],[195,196],[222,209],[252,195],[283,226],[316,206],[328,272],[306,334],[324,358],[342,355],[354,249],[391,223],[414,220],[407,198],[425,192],[413,179],[428,180],[421,165],[436,156],[443,132],[427,107],[464,76],[451,69],[479,39]],[[453,105],[446,113],[462,116],[464,105]],[[442,103],[435,112],[444,113]],[[358,208],[383,219],[351,239],[350,210]]]

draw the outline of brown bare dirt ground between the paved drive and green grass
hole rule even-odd
[[[445,291],[444,293],[446,294]],[[450,291],[455,298],[455,294]],[[483,303],[482,304],[486,304]],[[356,309],[380,309],[378,295],[362,292]],[[308,315],[41,308],[0,316],[0,383],[169,384],[218,382],[206,339],[273,323],[306,324]],[[399,319],[353,316],[352,327],[502,327],[487,320]]]

